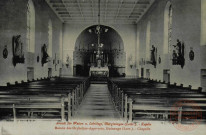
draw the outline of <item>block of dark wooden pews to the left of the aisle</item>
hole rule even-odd
[[[19,112],[28,112],[28,114],[33,114],[33,112],[61,112],[62,120],[65,119],[65,112],[67,112],[69,119],[90,84],[89,78],[80,79],[80,81],[78,79],[77,81],[69,80],[68,78],[58,78],[58,80],[55,78],[51,82],[50,80],[43,80],[0,87],[2,99],[0,108],[1,110],[13,109],[14,120],[17,118],[14,115],[16,109]],[[52,104],[54,104],[53,108]]]

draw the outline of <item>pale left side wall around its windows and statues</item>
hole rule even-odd
[[[27,81],[27,67],[34,67],[34,79],[41,77],[48,77],[48,67],[53,69],[52,76],[59,75],[59,68],[61,64],[58,64],[57,71],[55,71],[54,64],[45,64],[41,66],[41,47],[43,44],[48,45],[48,20],[52,21],[52,45],[53,45],[53,57],[57,53],[57,59],[59,56],[59,44],[60,44],[60,30],[62,29],[62,23],[57,18],[55,13],[49,8],[46,1],[32,0],[35,8],[35,53],[31,53],[33,57],[28,57],[28,44],[26,39],[27,34],[27,2],[28,0],[4,0],[0,1],[0,52],[3,51],[4,46],[7,45],[8,57],[4,59],[1,53],[0,57],[0,85],[6,85],[7,82],[14,83],[15,81]],[[25,57],[25,63],[17,64],[16,67],[12,64],[12,37],[21,35],[23,43],[23,52]],[[40,56],[40,61],[37,63],[37,56]],[[53,62],[52,62],[53,63]]]

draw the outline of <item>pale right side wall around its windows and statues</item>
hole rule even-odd
[[[182,69],[180,65],[172,65],[169,59],[171,54],[163,53],[164,43],[164,10],[165,0],[159,0],[154,3],[150,10],[143,16],[138,23],[140,32],[140,58],[145,58],[146,46],[146,25],[151,22],[151,44],[157,47],[157,54],[160,55],[162,62],[154,68],[147,64],[144,69],[150,69],[150,78],[163,80],[163,70],[170,69],[170,82],[176,82],[178,85],[192,85],[192,88],[200,87],[200,24],[201,24],[201,3],[200,0],[173,0],[172,19],[172,45],[176,45],[179,39],[185,44],[185,66]],[[195,59],[189,60],[190,47],[193,47]],[[202,54],[203,55],[203,54]],[[204,54],[205,56],[205,54]],[[138,64],[138,63],[137,63]],[[140,66],[139,66],[140,69]]]

